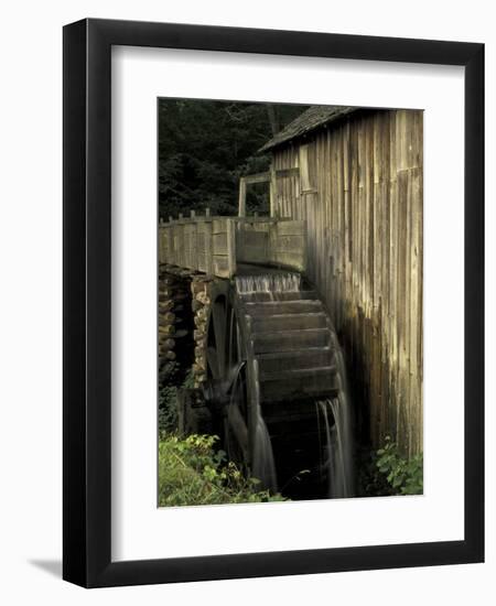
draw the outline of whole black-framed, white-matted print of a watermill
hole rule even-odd
[[[484,45],[64,28],[64,571],[482,562]]]

